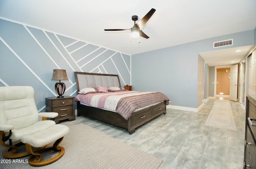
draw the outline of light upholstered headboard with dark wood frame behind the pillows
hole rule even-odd
[[[79,92],[85,87],[97,87],[97,86],[119,86],[121,83],[118,75],[100,74],[100,73],[85,73],[85,72],[74,72],[76,78],[76,88]]]

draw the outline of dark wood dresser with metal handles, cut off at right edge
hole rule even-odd
[[[244,169],[256,168],[256,94],[246,95]]]

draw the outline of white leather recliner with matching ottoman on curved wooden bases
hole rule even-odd
[[[30,165],[47,165],[58,160],[64,154],[64,148],[58,146],[69,128],[56,124],[53,120],[39,120],[40,117],[54,118],[55,112],[38,113],[34,101],[34,89],[31,86],[0,87],[0,145],[6,149],[2,152],[6,158],[18,158],[32,154]],[[40,151],[47,144],[54,143],[53,149],[61,150],[58,159],[40,161]],[[9,141],[9,143],[6,143]],[[15,145],[13,141],[22,141]],[[18,146],[26,144],[26,152],[19,152]],[[32,148],[33,147],[33,148]],[[39,164],[38,164],[39,163]]]

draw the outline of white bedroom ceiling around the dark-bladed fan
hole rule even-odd
[[[143,29],[149,39],[131,41],[130,31],[104,31],[131,28],[132,15],[140,20],[151,8],[156,12]],[[0,18],[132,55],[252,30],[256,27],[256,0],[0,0]],[[249,48],[244,47],[244,53]],[[223,65],[231,61],[224,59],[230,56],[224,51],[229,50],[200,55],[209,65]],[[237,54],[236,60],[244,53]],[[218,63],[210,59],[213,54],[220,57]]]

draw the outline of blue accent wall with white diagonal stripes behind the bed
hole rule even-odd
[[[131,85],[131,56],[22,23],[0,19],[0,86],[33,86],[37,108],[57,96],[53,69],[68,74],[64,96],[76,96],[74,71],[117,74]]]

